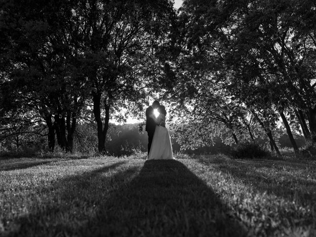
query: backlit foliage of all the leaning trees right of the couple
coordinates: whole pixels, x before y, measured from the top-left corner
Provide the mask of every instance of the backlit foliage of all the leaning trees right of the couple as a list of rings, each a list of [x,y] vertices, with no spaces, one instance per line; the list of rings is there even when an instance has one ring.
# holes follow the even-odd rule
[[[283,116],[297,152],[288,120],[295,129],[300,125],[306,140],[316,132],[315,9],[312,0],[184,1],[173,32],[177,56],[168,94],[186,113],[191,132],[200,129],[191,120],[205,127],[218,121],[237,144],[246,133],[253,141],[253,126],[261,127],[279,154],[273,131]]]

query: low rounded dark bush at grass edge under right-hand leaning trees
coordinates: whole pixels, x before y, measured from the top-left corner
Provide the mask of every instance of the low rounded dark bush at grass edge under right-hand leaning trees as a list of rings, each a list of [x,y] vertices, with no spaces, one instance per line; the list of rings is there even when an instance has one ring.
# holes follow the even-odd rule
[[[264,158],[270,153],[256,143],[240,143],[231,152],[233,158]]]

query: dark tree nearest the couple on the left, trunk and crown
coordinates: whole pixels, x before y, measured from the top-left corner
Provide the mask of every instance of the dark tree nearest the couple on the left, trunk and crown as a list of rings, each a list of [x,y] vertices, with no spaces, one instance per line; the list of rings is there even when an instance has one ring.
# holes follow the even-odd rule
[[[151,82],[143,67],[155,56],[173,14],[168,0],[79,0],[74,5],[72,34],[89,80],[100,153],[111,114],[131,101],[140,108],[146,98]]]

